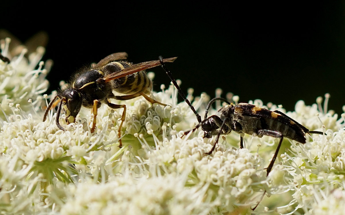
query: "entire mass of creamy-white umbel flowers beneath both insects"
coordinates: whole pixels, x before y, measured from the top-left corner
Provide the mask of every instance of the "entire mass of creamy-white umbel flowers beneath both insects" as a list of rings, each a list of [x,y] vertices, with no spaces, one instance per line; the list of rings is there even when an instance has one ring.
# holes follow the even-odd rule
[[[4,43],[3,55],[7,55]],[[40,48],[39,48],[40,49]],[[0,211],[7,214],[335,214],[343,211],[345,132],[344,116],[316,104],[297,102],[295,111],[255,100],[248,103],[279,110],[310,130],[306,144],[284,138],[272,172],[266,170],[278,139],[239,134],[221,135],[208,155],[215,136],[203,131],[181,134],[195,126],[196,117],[185,102],[177,102],[174,86],[153,92],[168,104],[150,104],[138,97],[126,104],[118,147],[122,109],[98,109],[96,131],[92,115],[82,108],[75,123],[55,125],[49,111],[42,122],[42,96],[48,82],[46,64],[38,49],[29,60],[20,54],[0,61]],[[32,59],[36,60],[32,60]],[[31,59],[31,60],[30,60]],[[153,78],[153,74],[149,73]],[[15,81],[14,86],[12,80]],[[24,84],[25,83],[25,84]],[[218,92],[219,93],[219,92]],[[192,100],[192,90],[187,98]],[[235,103],[238,96],[230,96]],[[30,102],[28,102],[28,100]],[[193,105],[205,111],[204,94]],[[326,101],[328,95],[326,95]],[[7,103],[6,103],[7,102]],[[327,102],[326,102],[327,104]],[[211,108],[209,114],[219,110]],[[270,197],[268,197],[270,196]]]

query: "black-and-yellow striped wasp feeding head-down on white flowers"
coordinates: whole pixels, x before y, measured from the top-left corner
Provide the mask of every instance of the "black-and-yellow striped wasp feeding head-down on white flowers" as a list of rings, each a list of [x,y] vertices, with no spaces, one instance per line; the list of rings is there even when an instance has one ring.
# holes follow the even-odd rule
[[[107,104],[112,109],[123,108],[121,124],[118,130],[119,147],[121,142],[121,129],[125,121],[126,105],[110,103],[109,99],[129,100],[143,96],[147,101],[166,106],[148,95],[152,91],[152,81],[146,75],[145,70],[160,65],[159,60],[148,61],[138,64],[127,62],[126,52],[118,52],[108,55],[91,68],[77,72],[71,81],[61,88],[61,91],[50,101],[43,116],[43,122],[47,119],[49,110],[54,101],[59,98],[56,125],[59,129],[65,129],[59,123],[61,107],[66,115],[66,123],[73,123],[80,111],[81,106],[92,109],[93,122],[91,133],[96,129],[97,110],[101,104]],[[163,62],[173,62],[176,58],[168,58]],[[115,95],[113,91],[125,95]]]

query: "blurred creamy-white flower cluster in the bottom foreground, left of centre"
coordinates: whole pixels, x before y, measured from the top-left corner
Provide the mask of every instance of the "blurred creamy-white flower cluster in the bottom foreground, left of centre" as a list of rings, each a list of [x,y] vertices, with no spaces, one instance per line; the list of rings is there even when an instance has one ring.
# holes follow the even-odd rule
[[[207,214],[211,199],[207,187],[186,187],[186,175],[150,178],[117,177],[95,184],[78,183],[66,190],[61,214]],[[66,191],[65,191],[66,192]]]

